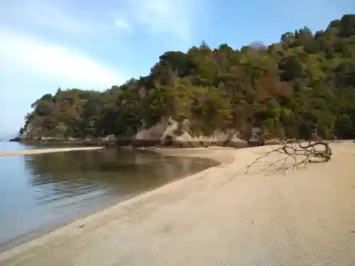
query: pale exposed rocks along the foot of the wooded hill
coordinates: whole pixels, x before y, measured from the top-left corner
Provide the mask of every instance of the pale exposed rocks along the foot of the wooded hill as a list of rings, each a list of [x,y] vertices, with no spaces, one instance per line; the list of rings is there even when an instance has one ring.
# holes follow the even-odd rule
[[[39,141],[41,144],[63,143],[66,145],[119,145],[122,147],[148,147],[154,145],[168,145],[175,148],[197,148],[209,145],[241,147],[246,141],[241,140],[239,132],[234,130],[214,131],[212,135],[193,135],[188,120],[179,123],[173,118],[162,118],[151,128],[146,128],[143,122],[141,129],[133,136],[107,135],[104,138],[60,138],[39,137],[34,133],[40,132],[40,128],[29,125],[17,138],[11,141]]]

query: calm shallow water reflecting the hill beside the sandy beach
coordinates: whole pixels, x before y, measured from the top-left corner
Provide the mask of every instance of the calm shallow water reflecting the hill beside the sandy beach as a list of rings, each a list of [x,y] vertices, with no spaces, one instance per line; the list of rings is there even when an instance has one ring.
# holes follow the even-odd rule
[[[0,151],[29,148],[0,142]],[[0,250],[212,165],[114,149],[0,157]]]

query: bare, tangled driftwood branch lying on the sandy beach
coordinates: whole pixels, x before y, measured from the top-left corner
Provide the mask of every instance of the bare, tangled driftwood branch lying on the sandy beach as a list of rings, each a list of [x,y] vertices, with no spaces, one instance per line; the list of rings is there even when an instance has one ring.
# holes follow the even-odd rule
[[[328,162],[332,157],[332,149],[329,147],[329,143],[324,140],[310,140],[306,143],[301,143],[299,140],[285,140],[278,142],[277,145],[276,148],[272,148],[271,151],[247,165],[245,173],[249,172],[250,167],[258,163],[266,165],[266,168],[261,170],[271,170],[272,167],[275,167],[271,172],[290,172],[302,166],[305,167],[308,162]],[[265,162],[263,159],[272,153],[280,154],[281,158],[273,162]],[[290,160],[292,163],[288,164]]]

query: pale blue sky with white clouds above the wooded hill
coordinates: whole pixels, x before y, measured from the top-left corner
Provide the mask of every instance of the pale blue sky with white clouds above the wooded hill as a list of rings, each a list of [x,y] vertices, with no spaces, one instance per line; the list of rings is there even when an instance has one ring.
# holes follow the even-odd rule
[[[167,50],[270,44],[344,13],[354,0],[1,0],[0,131],[16,133],[58,87],[107,89],[148,74]]]

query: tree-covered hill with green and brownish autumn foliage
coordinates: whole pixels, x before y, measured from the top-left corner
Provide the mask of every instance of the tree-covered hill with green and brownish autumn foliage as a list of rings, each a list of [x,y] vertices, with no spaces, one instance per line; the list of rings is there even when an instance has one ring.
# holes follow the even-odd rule
[[[323,138],[355,138],[355,15],[268,47],[202,42],[165,52],[147,77],[106,92],[58,89],[32,107],[24,128],[35,136],[134,135],[171,117],[187,119],[193,135],[260,126],[270,138],[309,138],[315,128]]]

